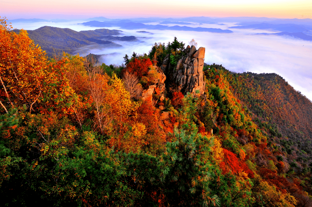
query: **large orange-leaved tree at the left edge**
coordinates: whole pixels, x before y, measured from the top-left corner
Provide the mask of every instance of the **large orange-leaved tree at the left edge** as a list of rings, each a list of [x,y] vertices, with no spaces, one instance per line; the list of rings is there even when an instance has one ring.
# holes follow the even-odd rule
[[[40,102],[55,73],[50,71],[46,53],[28,37],[10,31],[5,19],[0,20],[0,81],[6,97],[13,104],[26,104],[30,111]],[[11,101],[10,97],[14,97]],[[2,106],[3,107],[3,106]]]

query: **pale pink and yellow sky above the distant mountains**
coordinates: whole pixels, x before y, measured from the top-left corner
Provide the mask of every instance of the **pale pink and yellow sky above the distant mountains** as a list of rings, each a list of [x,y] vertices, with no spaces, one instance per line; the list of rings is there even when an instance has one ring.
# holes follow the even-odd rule
[[[8,19],[76,19],[95,16],[312,17],[311,0],[0,0],[0,8],[0,15]]]

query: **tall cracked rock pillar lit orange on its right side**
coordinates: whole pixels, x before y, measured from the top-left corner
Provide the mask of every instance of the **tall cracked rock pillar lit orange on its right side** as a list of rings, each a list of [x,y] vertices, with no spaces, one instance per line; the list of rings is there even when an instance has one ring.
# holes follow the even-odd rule
[[[178,90],[183,94],[190,92],[200,96],[205,92],[202,69],[204,67],[205,48],[188,46],[185,49],[187,55],[178,60],[176,69],[173,71],[173,81]]]

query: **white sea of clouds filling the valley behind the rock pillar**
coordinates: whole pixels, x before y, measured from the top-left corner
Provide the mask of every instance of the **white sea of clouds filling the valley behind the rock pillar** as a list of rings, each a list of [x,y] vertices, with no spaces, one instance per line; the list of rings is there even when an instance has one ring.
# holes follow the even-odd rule
[[[69,22],[16,22],[14,28],[35,30],[41,26],[54,26],[70,28],[72,30],[95,30],[97,27],[80,25],[85,21]],[[186,25],[190,27],[207,27],[227,29],[235,26],[235,23],[223,22],[225,25],[202,24]],[[158,24],[148,23],[148,24]],[[220,24],[220,22],[218,23]],[[169,24],[169,26],[173,26]],[[183,26],[183,25],[180,25]],[[119,29],[111,27],[107,29]],[[102,56],[100,61],[107,65],[123,63],[125,54],[131,56],[133,52],[148,53],[155,42],[172,42],[174,37],[188,44],[195,39],[198,47],[205,47],[205,63],[222,64],[226,69],[233,72],[251,71],[255,73],[276,73],[282,76],[295,90],[299,90],[308,99],[312,100],[312,41],[296,39],[291,36],[261,35],[257,33],[271,33],[268,30],[231,29],[233,33],[211,33],[195,31],[174,30],[145,30],[150,33],[138,33],[140,30],[123,30],[124,36],[134,35],[139,42],[114,41],[122,45],[120,48],[92,47],[89,53],[111,54]],[[85,56],[81,54],[80,56]]]

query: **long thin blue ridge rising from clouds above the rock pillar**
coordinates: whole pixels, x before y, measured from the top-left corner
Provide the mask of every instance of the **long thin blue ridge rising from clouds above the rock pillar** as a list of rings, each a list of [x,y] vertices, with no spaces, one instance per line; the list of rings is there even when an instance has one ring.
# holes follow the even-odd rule
[[[188,26],[166,26],[166,25],[145,25],[138,22],[102,22],[102,21],[88,21],[81,23],[85,26],[92,27],[120,27],[121,29],[135,30],[135,29],[149,29],[149,30],[180,30],[180,31],[198,31],[198,32],[214,32],[214,33],[232,33],[231,30],[222,30],[217,28],[205,27],[188,27]]]

